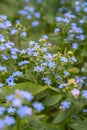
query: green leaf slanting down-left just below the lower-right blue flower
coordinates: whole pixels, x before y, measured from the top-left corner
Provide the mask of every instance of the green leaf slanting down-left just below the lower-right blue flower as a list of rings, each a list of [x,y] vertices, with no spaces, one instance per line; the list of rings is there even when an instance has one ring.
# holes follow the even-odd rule
[[[70,115],[70,110],[60,110],[58,112],[58,115],[53,120],[53,123],[61,123],[63,120],[65,120]]]

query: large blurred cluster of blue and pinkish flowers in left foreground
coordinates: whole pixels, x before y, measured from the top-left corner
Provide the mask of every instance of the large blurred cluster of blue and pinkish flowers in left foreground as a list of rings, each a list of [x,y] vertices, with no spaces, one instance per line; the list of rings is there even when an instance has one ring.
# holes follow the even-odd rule
[[[40,102],[31,103],[33,95],[24,90],[15,90],[14,94],[7,95],[6,104],[10,104],[9,107],[0,106],[0,116],[4,115],[0,119],[0,130],[3,130],[6,126],[12,126],[16,123],[16,118],[25,118],[33,115],[33,109],[38,112],[44,110],[44,106]],[[27,104],[28,103],[28,104]]]

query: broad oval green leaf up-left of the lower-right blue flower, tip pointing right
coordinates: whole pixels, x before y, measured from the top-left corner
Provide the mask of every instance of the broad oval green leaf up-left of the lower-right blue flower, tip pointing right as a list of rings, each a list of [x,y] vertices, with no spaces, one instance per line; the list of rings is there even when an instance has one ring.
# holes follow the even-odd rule
[[[45,105],[45,106],[55,105],[56,103],[58,103],[58,102],[61,100],[62,97],[63,97],[63,96],[60,95],[60,94],[53,95],[53,96],[50,95],[50,96],[48,96],[48,97],[46,98],[46,100],[44,101],[44,105]]]

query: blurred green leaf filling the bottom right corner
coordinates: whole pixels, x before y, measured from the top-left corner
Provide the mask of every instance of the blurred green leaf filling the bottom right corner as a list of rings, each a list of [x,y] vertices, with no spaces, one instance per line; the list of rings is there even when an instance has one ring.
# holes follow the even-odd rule
[[[75,121],[71,128],[74,130],[87,130],[87,121]]]

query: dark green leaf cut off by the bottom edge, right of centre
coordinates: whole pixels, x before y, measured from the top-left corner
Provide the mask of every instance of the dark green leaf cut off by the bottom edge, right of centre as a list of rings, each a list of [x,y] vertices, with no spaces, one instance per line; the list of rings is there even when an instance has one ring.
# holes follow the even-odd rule
[[[58,125],[54,125],[54,124],[49,124],[46,122],[42,122],[43,127],[45,130],[64,130],[62,127],[58,126]]]

